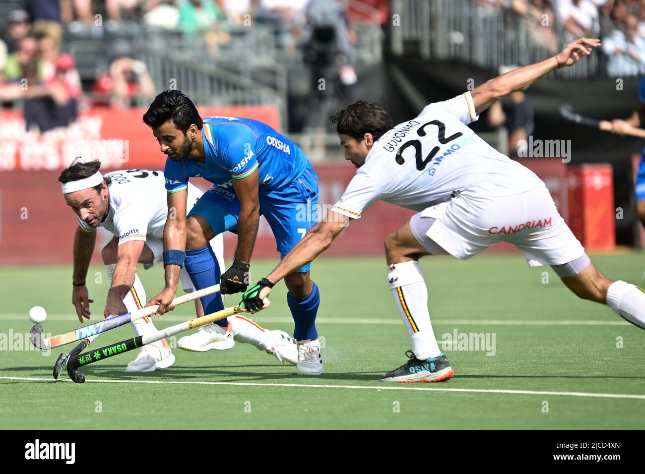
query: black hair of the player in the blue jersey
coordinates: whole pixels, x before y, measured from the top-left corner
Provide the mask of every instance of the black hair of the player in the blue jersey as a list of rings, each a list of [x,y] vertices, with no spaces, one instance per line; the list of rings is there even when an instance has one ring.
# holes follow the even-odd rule
[[[161,92],[148,107],[148,112],[143,114],[143,123],[150,128],[157,128],[169,120],[172,120],[184,135],[191,124],[195,124],[199,130],[202,129],[202,120],[195,104],[178,90]]]

